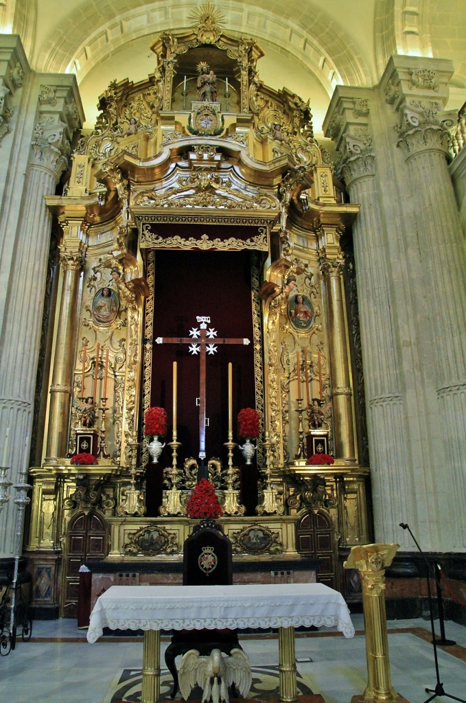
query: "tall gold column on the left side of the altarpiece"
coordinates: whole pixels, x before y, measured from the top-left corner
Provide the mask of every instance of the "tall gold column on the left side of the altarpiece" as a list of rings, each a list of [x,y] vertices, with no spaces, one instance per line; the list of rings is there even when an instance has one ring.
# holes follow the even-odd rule
[[[79,224],[75,222],[73,226],[79,229],[81,221],[80,219]],[[63,224],[64,229],[65,226],[70,228],[68,223]],[[68,413],[70,395],[73,392],[72,373],[75,363],[79,274],[83,263],[83,245],[79,240],[75,251],[67,250],[63,245],[60,252],[60,266],[63,269],[62,294],[50,387],[46,463],[58,463],[58,458],[64,457],[67,453]]]

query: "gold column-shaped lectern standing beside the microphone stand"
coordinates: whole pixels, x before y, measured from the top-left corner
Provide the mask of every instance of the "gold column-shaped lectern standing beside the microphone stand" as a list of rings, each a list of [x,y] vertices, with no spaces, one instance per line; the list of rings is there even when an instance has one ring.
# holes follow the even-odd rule
[[[363,695],[351,702],[390,703],[404,701],[391,686],[390,660],[385,613],[385,568],[391,565],[398,544],[368,544],[351,549],[345,569],[357,569],[363,588],[365,655],[368,685]]]

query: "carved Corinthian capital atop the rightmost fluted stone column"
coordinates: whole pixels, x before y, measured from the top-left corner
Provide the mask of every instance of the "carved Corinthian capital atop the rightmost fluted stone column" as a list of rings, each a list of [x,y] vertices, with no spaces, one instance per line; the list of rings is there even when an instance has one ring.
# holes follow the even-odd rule
[[[439,101],[406,100],[399,109],[400,124],[395,127],[397,145],[410,155],[426,150],[448,153],[449,132],[441,110]]]

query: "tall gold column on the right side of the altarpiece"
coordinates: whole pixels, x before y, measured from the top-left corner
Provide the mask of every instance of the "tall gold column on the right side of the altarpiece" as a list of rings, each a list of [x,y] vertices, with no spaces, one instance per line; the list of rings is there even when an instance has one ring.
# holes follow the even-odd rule
[[[335,232],[334,234],[335,238],[338,238],[337,233]],[[328,291],[335,456],[336,458],[354,461],[356,459],[356,453],[353,423],[353,393],[351,391],[351,374],[349,371],[349,349],[342,280],[344,261],[341,258],[339,247],[337,248],[337,255],[335,257],[330,257],[325,247],[321,248],[319,253],[319,263],[327,282]]]

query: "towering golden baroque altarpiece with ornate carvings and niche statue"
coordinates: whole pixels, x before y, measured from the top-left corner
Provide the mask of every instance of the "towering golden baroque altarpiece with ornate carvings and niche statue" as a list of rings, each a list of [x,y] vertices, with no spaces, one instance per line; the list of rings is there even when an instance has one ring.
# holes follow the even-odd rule
[[[164,32],[151,49],[153,75],[110,83],[63,195],[46,198],[63,238],[27,557],[35,605],[60,604],[70,617],[83,558],[100,556],[119,572],[149,558],[179,562],[192,524],[183,505],[195,473],[178,465],[176,435],[159,515],[145,511],[141,420],[157,373],[159,250],[251,252],[256,514],[241,503],[231,434],[224,458],[208,467],[235,560],[266,571],[270,560],[309,555],[298,529],[306,516],[328,524],[335,554],[370,538],[340,247],[358,207],[343,202],[309,104],[261,82],[260,47],[226,34],[212,6],[198,10],[192,31]],[[334,464],[307,462],[323,449]],[[98,463],[73,463],[82,451]],[[93,539],[96,550],[86,551]],[[338,574],[332,583],[339,587]]]

